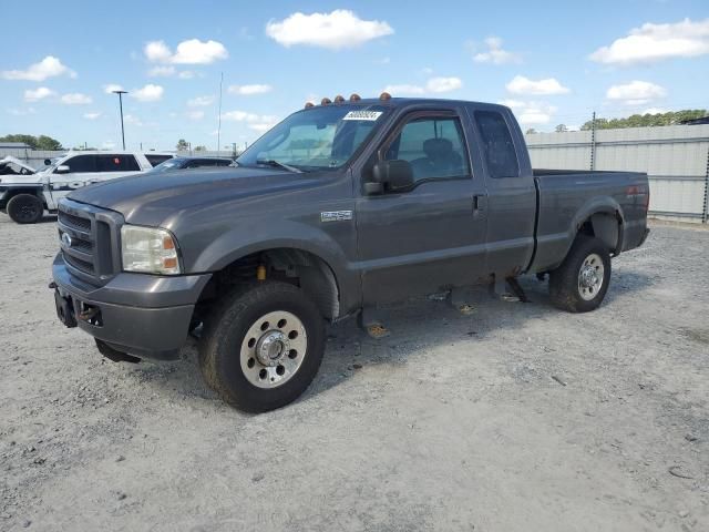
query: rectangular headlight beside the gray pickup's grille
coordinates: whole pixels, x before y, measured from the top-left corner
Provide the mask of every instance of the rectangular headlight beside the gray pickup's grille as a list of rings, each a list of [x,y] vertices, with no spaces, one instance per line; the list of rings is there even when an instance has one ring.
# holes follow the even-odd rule
[[[121,227],[121,255],[125,272],[179,274],[177,245],[165,229],[124,225]]]

